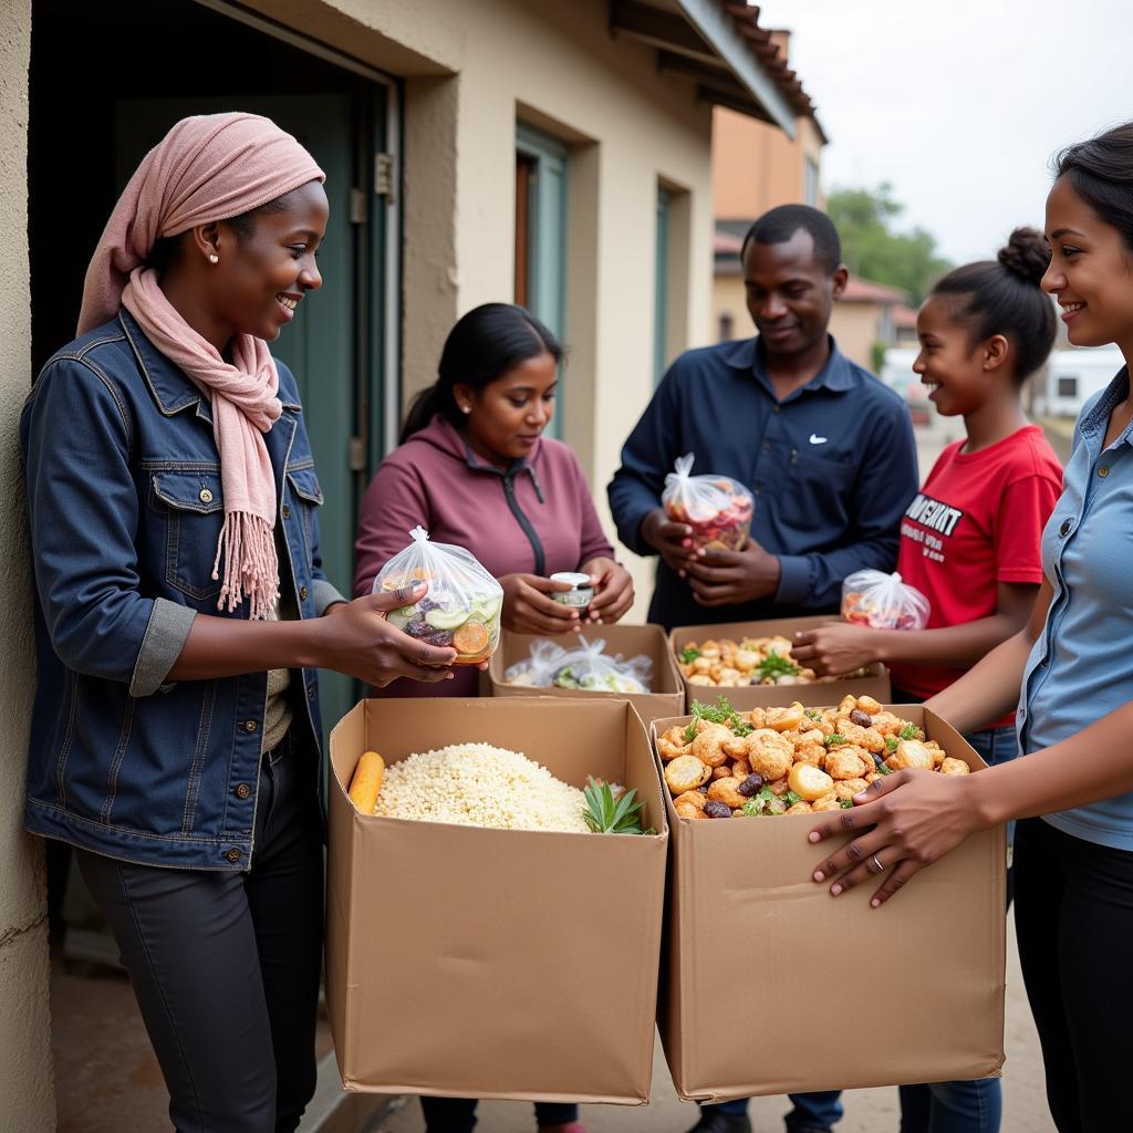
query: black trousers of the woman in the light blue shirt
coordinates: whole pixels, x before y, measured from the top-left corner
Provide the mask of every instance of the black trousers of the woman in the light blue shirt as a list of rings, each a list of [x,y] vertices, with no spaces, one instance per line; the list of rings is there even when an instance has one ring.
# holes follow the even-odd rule
[[[1133,852],[1021,820],[1015,928],[1058,1133],[1127,1130]]]

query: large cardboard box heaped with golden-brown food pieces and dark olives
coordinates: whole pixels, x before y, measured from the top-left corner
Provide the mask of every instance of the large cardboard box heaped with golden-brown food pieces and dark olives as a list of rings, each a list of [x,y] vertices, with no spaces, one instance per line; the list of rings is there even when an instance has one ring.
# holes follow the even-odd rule
[[[925,707],[655,721],[673,854],[658,1022],[682,1098],[997,1076],[1004,1062],[1003,828],[972,835],[886,904],[811,880],[809,832],[905,766],[985,764]],[[883,863],[884,864],[884,863]]]

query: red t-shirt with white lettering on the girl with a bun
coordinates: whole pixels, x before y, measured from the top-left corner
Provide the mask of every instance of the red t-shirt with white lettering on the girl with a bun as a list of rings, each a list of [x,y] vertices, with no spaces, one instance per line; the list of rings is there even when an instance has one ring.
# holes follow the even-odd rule
[[[999,582],[1041,582],[1039,540],[1062,494],[1062,465],[1038,425],[979,452],[961,452],[964,444],[940,453],[901,521],[897,570],[928,598],[927,629],[990,617]],[[893,683],[922,699],[963,675],[938,665],[892,668]]]

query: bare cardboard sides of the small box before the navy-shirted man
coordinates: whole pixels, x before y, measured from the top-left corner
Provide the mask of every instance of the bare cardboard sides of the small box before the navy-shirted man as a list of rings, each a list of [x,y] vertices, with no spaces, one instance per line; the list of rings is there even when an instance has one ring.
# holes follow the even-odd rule
[[[781,634],[787,640],[794,640],[798,630],[812,630],[835,621],[833,614],[819,614],[815,617],[780,617],[766,622],[724,622],[719,625],[680,625],[668,636],[674,663],[676,654],[689,641],[707,641],[709,638],[732,638],[739,641],[743,637],[775,637]],[[727,697],[732,706],[740,712],[752,708],[769,708],[774,705],[789,705],[798,700],[808,708],[823,705],[836,705],[847,692],[855,697],[872,697],[879,704],[886,704],[892,695],[889,671],[885,665],[871,665],[868,676],[843,678],[836,681],[818,681],[812,684],[750,684],[738,689],[713,689],[707,685],[689,684],[683,673],[678,668],[678,675],[684,685],[685,710],[692,707],[693,700],[715,702],[721,693]]]

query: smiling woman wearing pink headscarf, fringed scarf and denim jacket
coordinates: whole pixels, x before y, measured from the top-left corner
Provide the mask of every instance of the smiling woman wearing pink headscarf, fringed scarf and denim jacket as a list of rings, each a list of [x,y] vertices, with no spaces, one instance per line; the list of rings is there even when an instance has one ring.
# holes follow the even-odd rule
[[[26,825],[75,847],[194,1133],[295,1130],[314,1091],[315,671],[437,681],[455,657],[382,616],[416,591],[347,602],[322,570],[298,392],[267,347],[322,282],[322,182],[267,119],[178,122],[20,421]]]

